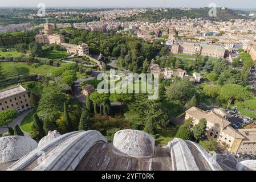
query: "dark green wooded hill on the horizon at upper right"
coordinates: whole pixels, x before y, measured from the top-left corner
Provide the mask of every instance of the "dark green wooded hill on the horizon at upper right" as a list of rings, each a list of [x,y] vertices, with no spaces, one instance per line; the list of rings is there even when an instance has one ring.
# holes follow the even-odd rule
[[[237,19],[242,18],[246,19],[248,16],[242,16],[241,14],[248,15],[247,11],[242,10],[231,10],[231,9],[221,9],[217,8],[217,16],[210,17],[209,16],[210,8],[204,7],[200,9],[191,9],[191,10],[181,10],[181,9],[168,9],[167,11],[162,10],[148,10],[146,13],[141,13],[139,15],[135,15],[132,17],[119,18],[120,20],[127,21],[143,21],[143,22],[159,22],[161,19],[171,19],[176,18],[180,19],[183,16],[187,16],[188,18],[204,18],[210,20],[229,20],[229,19]]]

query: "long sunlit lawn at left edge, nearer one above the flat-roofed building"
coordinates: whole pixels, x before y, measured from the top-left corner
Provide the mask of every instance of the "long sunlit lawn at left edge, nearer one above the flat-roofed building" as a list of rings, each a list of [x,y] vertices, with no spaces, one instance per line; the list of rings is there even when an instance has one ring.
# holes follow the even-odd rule
[[[3,72],[10,72],[10,69],[17,67],[19,71],[22,73],[51,73],[56,69],[56,67],[52,67],[50,65],[40,65],[37,63],[32,63],[31,65],[27,65],[27,63],[0,63]]]

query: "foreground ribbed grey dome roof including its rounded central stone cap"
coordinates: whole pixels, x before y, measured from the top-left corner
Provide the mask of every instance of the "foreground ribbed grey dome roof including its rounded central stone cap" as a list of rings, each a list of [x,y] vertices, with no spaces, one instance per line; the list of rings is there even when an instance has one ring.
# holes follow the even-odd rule
[[[19,144],[18,144],[19,145]],[[33,146],[34,147],[34,146]],[[32,148],[33,148],[32,147]],[[32,148],[30,148],[32,150]],[[48,133],[8,171],[222,171],[255,170],[256,160],[238,163],[232,155],[209,154],[197,143],[175,138],[156,147],[151,135],[120,130],[108,143],[99,131]],[[17,158],[15,158],[17,159]]]

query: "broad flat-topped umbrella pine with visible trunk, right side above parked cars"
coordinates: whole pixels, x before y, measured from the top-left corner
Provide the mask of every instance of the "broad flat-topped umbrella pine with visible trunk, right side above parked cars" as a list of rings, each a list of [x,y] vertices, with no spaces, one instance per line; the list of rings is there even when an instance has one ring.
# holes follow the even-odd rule
[[[246,100],[253,98],[253,93],[247,91],[245,87],[237,84],[227,84],[222,86],[220,99],[228,101],[227,109],[234,100]]]

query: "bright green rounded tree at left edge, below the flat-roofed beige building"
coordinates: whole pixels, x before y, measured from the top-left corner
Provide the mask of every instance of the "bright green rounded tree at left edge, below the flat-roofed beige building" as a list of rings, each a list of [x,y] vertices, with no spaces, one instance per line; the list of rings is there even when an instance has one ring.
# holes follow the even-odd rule
[[[9,109],[3,110],[0,112],[0,127],[7,127],[9,128],[9,123],[13,121],[18,115],[17,110]]]

